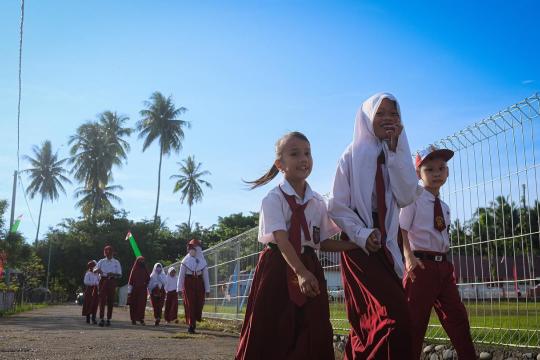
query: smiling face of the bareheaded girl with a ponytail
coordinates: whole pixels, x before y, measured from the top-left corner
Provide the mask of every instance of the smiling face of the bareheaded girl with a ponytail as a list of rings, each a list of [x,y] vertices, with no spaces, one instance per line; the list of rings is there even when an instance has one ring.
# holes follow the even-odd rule
[[[282,146],[276,167],[285,174],[285,179],[291,183],[305,181],[313,168],[311,146],[308,141],[291,136]]]

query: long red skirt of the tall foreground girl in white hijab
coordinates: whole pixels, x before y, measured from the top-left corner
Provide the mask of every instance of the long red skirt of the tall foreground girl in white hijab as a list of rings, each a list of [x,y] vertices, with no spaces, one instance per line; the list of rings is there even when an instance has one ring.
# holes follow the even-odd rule
[[[405,292],[384,252],[343,252],[341,275],[351,325],[344,359],[411,359]]]

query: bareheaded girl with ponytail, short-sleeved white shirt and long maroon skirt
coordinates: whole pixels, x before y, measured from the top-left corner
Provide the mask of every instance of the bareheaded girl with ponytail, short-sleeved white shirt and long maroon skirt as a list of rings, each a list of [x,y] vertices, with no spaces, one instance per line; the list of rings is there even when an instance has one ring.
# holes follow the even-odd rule
[[[271,169],[249,182],[256,188],[283,173],[262,201],[258,240],[266,246],[253,276],[237,360],[334,359],[326,280],[315,251],[357,247],[328,240],[340,229],[306,181],[312,167],[309,140],[291,132],[276,143]]]

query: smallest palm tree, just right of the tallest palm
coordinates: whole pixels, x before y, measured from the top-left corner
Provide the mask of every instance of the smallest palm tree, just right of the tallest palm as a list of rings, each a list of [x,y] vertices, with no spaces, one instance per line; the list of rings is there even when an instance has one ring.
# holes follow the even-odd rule
[[[188,156],[187,159],[179,162],[180,174],[172,175],[171,179],[178,179],[174,185],[173,192],[181,191],[180,202],[183,204],[187,201],[189,207],[188,227],[191,229],[191,207],[193,204],[200,202],[203,198],[203,190],[201,185],[212,188],[212,185],[202,179],[203,176],[211,175],[207,170],[201,170],[201,163],[195,162],[195,156]]]

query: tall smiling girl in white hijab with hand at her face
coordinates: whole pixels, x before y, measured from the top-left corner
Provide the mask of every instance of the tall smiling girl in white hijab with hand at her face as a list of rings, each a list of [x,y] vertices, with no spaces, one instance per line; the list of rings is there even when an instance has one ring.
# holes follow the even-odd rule
[[[351,325],[345,359],[411,359],[399,208],[420,191],[399,104],[391,94],[375,94],[356,114],[328,201],[342,237],[360,247],[341,255]]]

